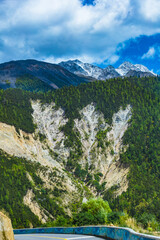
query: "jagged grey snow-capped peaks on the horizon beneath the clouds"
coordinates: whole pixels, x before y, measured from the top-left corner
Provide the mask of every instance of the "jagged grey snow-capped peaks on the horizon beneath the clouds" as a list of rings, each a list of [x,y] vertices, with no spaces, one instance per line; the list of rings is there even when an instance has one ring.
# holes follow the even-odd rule
[[[79,60],[69,60],[59,63],[60,66],[79,76],[92,77],[98,80],[125,76],[154,76],[147,67],[141,64],[132,64],[130,62],[122,63],[118,68],[109,65],[106,68],[100,68],[89,63],[83,63]]]

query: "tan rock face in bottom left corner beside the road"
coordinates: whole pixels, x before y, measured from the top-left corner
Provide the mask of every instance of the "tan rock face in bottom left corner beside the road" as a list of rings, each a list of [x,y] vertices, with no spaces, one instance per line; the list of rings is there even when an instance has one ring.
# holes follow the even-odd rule
[[[14,240],[11,220],[2,212],[0,212],[0,239]]]

